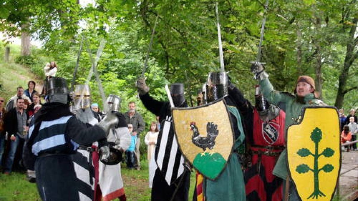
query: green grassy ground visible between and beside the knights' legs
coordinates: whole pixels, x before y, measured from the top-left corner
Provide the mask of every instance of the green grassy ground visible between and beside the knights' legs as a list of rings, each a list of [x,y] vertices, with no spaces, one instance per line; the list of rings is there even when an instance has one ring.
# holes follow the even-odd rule
[[[141,170],[129,170],[122,164],[122,178],[127,201],[149,201],[148,163],[141,161]],[[195,173],[190,179],[189,197],[193,196]],[[36,185],[26,180],[24,173],[13,172],[10,175],[0,173],[0,201],[40,201]],[[191,199],[189,199],[191,200]]]

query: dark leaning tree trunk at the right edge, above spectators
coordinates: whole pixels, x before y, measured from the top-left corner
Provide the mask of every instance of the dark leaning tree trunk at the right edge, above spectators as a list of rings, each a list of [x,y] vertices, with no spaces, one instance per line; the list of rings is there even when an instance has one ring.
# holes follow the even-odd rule
[[[338,83],[338,92],[335,100],[334,106],[337,108],[342,108],[344,102],[344,95],[349,92],[347,90],[347,79],[349,78],[348,72],[352,63],[358,57],[358,52],[354,53],[354,48],[357,46],[358,36],[354,38],[355,30],[357,29],[358,18],[354,18],[352,21],[352,26],[349,31],[348,41],[347,41],[347,52],[345,53],[344,63],[342,71],[339,75]],[[351,86],[354,87],[354,86]]]

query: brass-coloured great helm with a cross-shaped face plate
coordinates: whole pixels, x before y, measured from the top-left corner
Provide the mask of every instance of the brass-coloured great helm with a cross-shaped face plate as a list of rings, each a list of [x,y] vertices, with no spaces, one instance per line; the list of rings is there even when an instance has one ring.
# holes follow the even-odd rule
[[[75,109],[85,109],[91,106],[91,93],[87,84],[76,85],[72,95]]]

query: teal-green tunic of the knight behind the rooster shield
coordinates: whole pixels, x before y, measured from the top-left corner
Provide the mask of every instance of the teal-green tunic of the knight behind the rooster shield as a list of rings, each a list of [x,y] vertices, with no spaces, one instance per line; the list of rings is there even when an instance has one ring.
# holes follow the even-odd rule
[[[237,149],[245,140],[240,113],[236,107],[228,107],[237,119],[237,127],[240,130],[240,136],[235,140],[234,150]],[[206,201],[245,201],[245,182],[241,170],[240,160],[237,153],[232,153],[227,165],[220,176],[211,181],[206,179],[204,182],[204,194]]]

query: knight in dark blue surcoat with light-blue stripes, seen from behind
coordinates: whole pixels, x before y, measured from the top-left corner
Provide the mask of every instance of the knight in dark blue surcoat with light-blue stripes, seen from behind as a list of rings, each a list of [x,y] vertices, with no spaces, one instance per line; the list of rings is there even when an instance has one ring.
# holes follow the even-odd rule
[[[73,155],[81,146],[90,147],[93,142],[105,141],[110,128],[117,125],[119,117],[108,115],[100,123],[88,126],[79,121],[69,110],[67,83],[64,78],[53,77],[47,83],[48,103],[35,114],[30,122],[24,152],[27,169],[36,171],[36,183],[42,200],[93,200],[93,191],[87,183],[93,179],[90,158],[81,163],[73,161]],[[109,148],[100,148],[101,160],[109,156]],[[79,178],[78,166],[88,174]],[[93,181],[92,181],[93,182]],[[85,195],[86,199],[82,199]]]

